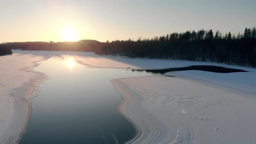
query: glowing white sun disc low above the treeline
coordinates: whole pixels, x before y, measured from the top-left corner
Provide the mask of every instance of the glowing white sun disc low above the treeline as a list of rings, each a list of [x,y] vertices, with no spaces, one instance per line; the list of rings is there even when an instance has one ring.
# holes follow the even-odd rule
[[[63,27],[61,35],[62,35],[63,41],[66,41],[66,42],[78,41],[77,31],[73,27],[70,27],[70,26]]]

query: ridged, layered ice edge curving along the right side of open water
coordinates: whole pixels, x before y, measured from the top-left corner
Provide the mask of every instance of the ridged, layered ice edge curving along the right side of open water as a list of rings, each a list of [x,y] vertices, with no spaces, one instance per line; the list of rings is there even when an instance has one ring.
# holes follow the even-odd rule
[[[143,98],[140,95],[133,93],[131,89],[127,89],[127,85],[121,82],[121,79],[112,79],[110,81],[114,85],[115,90],[122,96],[122,100],[117,105],[118,113],[129,121],[136,131],[135,136],[126,143],[150,144],[162,139],[175,139],[176,135],[170,134],[176,134],[176,128],[173,127],[175,131],[170,131],[168,128],[165,128],[165,125],[159,121],[158,118],[142,108],[139,103],[142,102]],[[135,107],[136,110],[134,111]]]

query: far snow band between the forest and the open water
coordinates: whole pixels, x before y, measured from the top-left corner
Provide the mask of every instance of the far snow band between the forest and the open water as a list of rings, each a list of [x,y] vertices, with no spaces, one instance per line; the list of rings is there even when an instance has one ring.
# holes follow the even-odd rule
[[[187,67],[190,65],[214,65],[232,69],[243,69],[246,71],[256,71],[253,68],[236,65],[225,65],[214,62],[194,62],[185,60],[169,59],[131,59],[122,56],[99,56],[93,52],[65,52],[65,51],[13,51],[13,53],[33,54],[36,56],[59,56],[62,58],[73,58],[77,62],[88,67],[98,68],[118,68],[118,69],[167,69]]]

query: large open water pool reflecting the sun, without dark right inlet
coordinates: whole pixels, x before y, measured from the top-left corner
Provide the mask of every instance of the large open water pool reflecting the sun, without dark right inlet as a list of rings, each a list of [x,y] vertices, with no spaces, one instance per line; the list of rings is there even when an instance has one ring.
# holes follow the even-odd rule
[[[49,80],[32,100],[32,114],[20,144],[122,144],[135,129],[116,111],[121,95],[109,79],[151,75],[125,69],[86,68],[60,58],[35,71]]]

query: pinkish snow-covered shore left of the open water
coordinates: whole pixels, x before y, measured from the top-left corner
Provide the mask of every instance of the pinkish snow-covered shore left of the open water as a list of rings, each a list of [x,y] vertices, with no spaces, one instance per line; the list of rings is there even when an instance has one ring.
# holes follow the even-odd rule
[[[47,75],[33,71],[45,56],[20,55],[0,57],[0,143],[17,143],[26,131],[31,108],[26,97]]]

